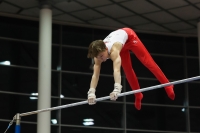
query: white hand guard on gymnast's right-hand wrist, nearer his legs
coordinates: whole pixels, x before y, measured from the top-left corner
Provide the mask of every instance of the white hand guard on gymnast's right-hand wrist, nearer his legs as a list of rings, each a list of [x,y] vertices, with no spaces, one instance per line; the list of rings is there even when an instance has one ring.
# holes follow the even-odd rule
[[[115,101],[118,98],[118,94],[120,94],[122,91],[122,86],[119,83],[114,84],[114,90],[110,93],[110,100]]]

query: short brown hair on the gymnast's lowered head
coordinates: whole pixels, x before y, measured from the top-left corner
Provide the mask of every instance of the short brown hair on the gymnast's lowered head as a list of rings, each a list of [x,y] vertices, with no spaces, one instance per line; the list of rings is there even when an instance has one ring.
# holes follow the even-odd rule
[[[106,50],[106,45],[103,42],[103,40],[96,40],[93,41],[90,45],[89,45],[89,49],[88,49],[88,58],[94,58],[97,57],[99,53],[103,52]]]

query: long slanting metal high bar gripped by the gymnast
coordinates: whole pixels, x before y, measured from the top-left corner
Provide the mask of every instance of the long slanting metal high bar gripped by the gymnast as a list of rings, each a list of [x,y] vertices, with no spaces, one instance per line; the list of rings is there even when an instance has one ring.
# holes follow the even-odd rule
[[[128,91],[128,92],[119,94],[118,97],[130,95],[130,94],[135,94],[135,93],[139,93],[139,92],[144,92],[144,91],[149,91],[149,90],[154,90],[154,89],[162,88],[162,87],[169,86],[169,85],[176,85],[176,84],[181,84],[181,83],[185,83],[185,82],[190,82],[190,81],[198,80],[198,79],[200,79],[200,76],[182,79],[182,80],[169,82],[169,83],[165,83],[165,84],[160,84],[160,85],[156,85],[156,86],[151,86],[151,87],[138,89],[138,90],[134,90],[134,91]],[[110,99],[110,96],[97,98],[96,102],[107,100],[107,99]],[[66,105],[62,105],[62,106],[57,106],[57,107],[41,109],[41,110],[36,110],[36,111],[32,111],[32,112],[27,112],[27,113],[22,113],[22,114],[20,114],[20,116],[27,116],[27,115],[37,114],[37,113],[41,113],[41,112],[46,112],[46,111],[69,108],[69,107],[78,106],[78,105],[87,104],[87,103],[88,103],[87,101],[76,102],[76,103],[72,103],[72,104],[66,104]]]

